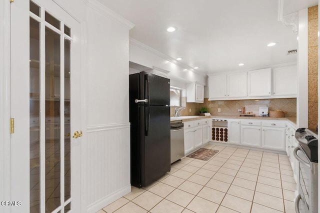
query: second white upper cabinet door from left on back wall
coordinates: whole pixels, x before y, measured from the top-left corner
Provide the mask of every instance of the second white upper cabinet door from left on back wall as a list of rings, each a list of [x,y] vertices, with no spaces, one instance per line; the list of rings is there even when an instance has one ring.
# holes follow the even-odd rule
[[[227,74],[227,97],[247,96],[246,72]]]

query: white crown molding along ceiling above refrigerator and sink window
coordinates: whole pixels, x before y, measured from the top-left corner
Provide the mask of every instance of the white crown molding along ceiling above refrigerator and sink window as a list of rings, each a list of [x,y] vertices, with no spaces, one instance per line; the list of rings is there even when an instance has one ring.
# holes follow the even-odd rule
[[[156,50],[156,49],[154,49],[154,48],[152,48],[152,47],[150,47],[150,46],[148,46],[148,45],[146,45],[146,44],[144,44],[144,43],[142,43],[142,42],[140,42],[140,41],[138,41],[138,40],[136,40],[136,39],[134,39],[132,37],[129,37],[129,44],[132,44],[132,45],[134,45],[136,47],[139,47],[141,49],[144,49],[144,50],[146,50],[146,51],[148,51],[148,52],[150,52],[152,54],[155,54],[155,55],[157,55],[157,56],[159,56],[159,57],[161,57],[161,58],[163,58],[163,59],[165,59],[167,61],[170,61],[171,63],[174,63],[174,64],[180,66],[183,69],[187,69],[188,71],[192,71],[192,72],[194,72],[196,74],[199,74],[199,75],[202,75],[202,76],[206,76],[206,74],[203,74],[201,72],[195,71],[193,69],[193,67],[188,66],[188,65],[186,65],[184,63],[181,63],[181,62],[177,61],[176,59],[174,59],[173,57],[170,57],[170,56],[168,56],[168,55],[166,55],[166,54],[164,54],[164,53],[162,53],[162,52],[160,52],[160,51],[158,51],[158,50]]]

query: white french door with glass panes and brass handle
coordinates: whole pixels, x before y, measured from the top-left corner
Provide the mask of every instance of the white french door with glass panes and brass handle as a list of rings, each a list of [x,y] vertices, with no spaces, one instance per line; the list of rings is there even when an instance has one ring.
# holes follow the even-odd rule
[[[11,212],[80,212],[80,23],[53,0],[11,3]]]

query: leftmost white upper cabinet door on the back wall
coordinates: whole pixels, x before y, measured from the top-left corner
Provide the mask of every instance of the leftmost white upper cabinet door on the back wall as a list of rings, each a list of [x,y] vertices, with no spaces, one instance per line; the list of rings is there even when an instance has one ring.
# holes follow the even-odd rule
[[[209,76],[209,100],[226,98],[226,75]]]

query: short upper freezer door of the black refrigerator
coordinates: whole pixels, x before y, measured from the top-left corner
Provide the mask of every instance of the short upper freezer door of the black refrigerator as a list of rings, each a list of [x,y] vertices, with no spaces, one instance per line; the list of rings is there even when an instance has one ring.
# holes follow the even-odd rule
[[[170,79],[161,77],[147,72],[140,72],[144,79],[140,81],[140,86],[143,84],[144,98],[148,99],[148,105],[170,105]]]

